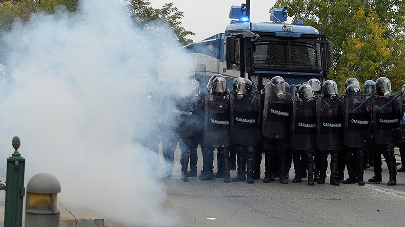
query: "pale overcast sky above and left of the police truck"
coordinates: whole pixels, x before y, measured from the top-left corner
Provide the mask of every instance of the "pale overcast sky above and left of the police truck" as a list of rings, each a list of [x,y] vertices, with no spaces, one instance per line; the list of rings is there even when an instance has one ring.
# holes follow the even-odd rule
[[[220,32],[230,24],[229,11],[232,5],[246,3],[245,0],[150,0],[152,7],[161,8],[165,3],[173,2],[174,6],[184,12],[183,27],[195,33],[194,41],[200,41]],[[251,0],[250,21],[270,21],[269,9],[276,0]]]

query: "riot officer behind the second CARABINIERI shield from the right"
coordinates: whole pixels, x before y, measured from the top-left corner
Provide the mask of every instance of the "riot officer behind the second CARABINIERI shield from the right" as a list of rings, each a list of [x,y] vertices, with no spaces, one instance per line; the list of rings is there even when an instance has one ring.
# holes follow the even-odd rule
[[[344,141],[349,178],[343,180],[343,184],[365,185],[363,162],[367,148],[372,143],[371,98],[361,95],[361,88],[357,84],[350,84],[346,88]]]

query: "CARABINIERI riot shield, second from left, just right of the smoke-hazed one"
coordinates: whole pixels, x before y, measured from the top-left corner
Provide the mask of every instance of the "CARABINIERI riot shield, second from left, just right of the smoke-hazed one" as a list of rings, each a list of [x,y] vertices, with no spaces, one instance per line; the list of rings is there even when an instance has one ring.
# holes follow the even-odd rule
[[[205,144],[209,147],[231,146],[229,95],[207,94],[205,105]]]

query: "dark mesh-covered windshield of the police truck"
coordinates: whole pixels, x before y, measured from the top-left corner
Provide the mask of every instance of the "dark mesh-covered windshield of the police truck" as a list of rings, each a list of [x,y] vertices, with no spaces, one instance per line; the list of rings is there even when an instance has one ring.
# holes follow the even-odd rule
[[[322,70],[321,42],[258,40],[252,43],[255,69]]]

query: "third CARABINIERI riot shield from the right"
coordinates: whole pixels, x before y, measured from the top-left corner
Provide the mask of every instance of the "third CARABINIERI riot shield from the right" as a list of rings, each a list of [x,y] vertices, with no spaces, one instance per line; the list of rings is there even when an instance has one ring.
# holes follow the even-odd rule
[[[343,147],[343,96],[316,99],[317,147],[320,150],[337,150]]]

